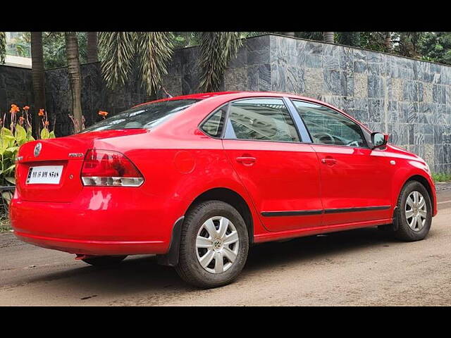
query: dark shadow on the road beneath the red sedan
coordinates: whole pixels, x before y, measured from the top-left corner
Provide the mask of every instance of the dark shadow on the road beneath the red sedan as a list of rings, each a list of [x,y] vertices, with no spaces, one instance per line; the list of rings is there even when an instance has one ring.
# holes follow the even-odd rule
[[[289,242],[268,242],[252,246],[242,278],[254,273],[264,274],[280,265],[323,264],[340,259],[345,253],[361,249],[383,249],[399,245],[388,234],[376,228],[334,232],[302,237]],[[339,263],[339,262],[338,262]],[[171,267],[158,265],[154,256],[132,256],[114,268],[96,268],[80,262],[80,268],[40,275],[30,282],[63,280],[68,287],[91,293],[121,294],[177,290],[192,292],[197,289],[180,280]]]

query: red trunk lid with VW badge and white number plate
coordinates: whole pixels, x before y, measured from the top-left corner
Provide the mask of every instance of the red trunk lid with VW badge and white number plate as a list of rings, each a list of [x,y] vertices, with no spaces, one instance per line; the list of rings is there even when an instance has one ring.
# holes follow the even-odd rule
[[[94,142],[142,132],[147,130],[105,130],[23,144],[18,152],[20,159],[16,162],[16,189],[20,199],[66,203],[73,201],[83,189],[80,179],[82,163],[87,150],[94,148]],[[40,151],[35,154],[37,147],[40,147]],[[55,175],[59,177],[59,181],[55,180]]]

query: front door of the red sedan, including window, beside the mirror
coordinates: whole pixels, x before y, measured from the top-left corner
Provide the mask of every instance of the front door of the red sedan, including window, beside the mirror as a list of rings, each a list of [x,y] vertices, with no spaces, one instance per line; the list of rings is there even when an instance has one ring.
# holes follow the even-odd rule
[[[362,127],[326,106],[292,100],[319,158],[323,225],[391,218],[388,158]]]

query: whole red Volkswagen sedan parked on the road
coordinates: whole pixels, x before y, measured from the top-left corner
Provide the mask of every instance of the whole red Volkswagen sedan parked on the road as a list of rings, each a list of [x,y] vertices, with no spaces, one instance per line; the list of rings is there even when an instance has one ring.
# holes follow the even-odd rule
[[[25,242],[92,265],[156,254],[199,287],[239,275],[249,245],[380,226],[424,239],[424,160],[340,109],[268,92],[152,101],[20,147],[10,215]]]

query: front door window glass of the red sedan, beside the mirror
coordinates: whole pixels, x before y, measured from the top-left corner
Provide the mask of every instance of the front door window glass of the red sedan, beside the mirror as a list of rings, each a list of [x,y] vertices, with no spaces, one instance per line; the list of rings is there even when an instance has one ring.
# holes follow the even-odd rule
[[[367,147],[362,128],[333,109],[292,101],[316,144]]]

